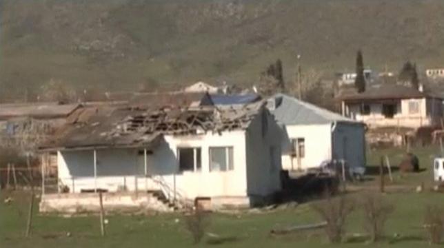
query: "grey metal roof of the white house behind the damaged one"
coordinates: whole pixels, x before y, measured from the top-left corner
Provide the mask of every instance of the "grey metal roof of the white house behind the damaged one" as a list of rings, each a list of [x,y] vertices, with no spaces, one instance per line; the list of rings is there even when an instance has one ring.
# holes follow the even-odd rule
[[[285,94],[276,94],[268,101],[269,103],[274,101],[274,110],[270,108],[270,104],[268,107],[270,112],[274,114],[276,121],[285,125],[316,125],[334,121],[359,123]]]

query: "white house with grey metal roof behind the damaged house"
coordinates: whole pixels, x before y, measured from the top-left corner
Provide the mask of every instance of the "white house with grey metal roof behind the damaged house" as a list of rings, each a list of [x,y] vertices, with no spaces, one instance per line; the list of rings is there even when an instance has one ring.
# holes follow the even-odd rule
[[[319,168],[333,160],[344,160],[354,168],[365,166],[363,123],[285,94],[268,99],[268,108],[283,132],[283,169]]]

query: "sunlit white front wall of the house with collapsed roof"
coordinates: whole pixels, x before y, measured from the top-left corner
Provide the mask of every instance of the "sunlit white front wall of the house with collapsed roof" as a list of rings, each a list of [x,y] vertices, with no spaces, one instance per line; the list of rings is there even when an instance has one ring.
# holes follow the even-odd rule
[[[210,172],[209,147],[233,147],[234,170]],[[176,159],[177,147],[201,147],[200,172],[179,172]],[[110,191],[118,187],[134,190],[134,178],[139,175],[138,189],[145,188],[143,156],[138,149],[98,149],[97,187]],[[74,178],[74,191],[94,189],[94,157],[92,151],[59,152],[59,178],[64,185],[71,187]],[[245,132],[223,132],[199,136],[165,136],[161,145],[148,155],[148,180],[150,189],[160,189],[161,182],[168,194],[176,197],[195,198],[197,196],[246,196]]]

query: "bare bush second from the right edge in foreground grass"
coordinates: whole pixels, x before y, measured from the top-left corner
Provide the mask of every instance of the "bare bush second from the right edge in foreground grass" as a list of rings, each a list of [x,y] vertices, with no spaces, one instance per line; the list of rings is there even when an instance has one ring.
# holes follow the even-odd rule
[[[363,210],[365,229],[375,242],[383,236],[385,222],[392,214],[394,206],[385,203],[381,194],[366,194],[363,198]]]

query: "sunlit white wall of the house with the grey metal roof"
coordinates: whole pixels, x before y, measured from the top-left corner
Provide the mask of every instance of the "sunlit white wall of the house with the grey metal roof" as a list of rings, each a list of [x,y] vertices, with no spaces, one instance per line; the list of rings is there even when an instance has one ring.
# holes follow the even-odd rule
[[[323,125],[287,125],[283,130],[282,167],[287,170],[318,167],[322,161],[332,159],[331,124]],[[305,139],[305,156],[298,159],[290,155],[291,138]]]

